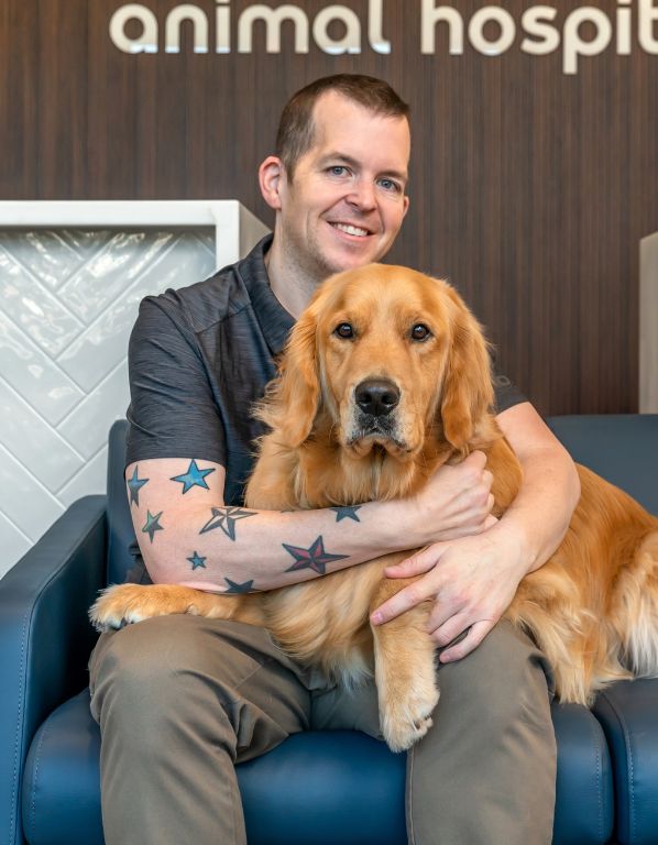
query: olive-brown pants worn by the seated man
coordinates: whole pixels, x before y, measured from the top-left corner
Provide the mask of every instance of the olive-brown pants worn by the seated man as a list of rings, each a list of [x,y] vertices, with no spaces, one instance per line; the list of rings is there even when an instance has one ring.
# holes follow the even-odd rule
[[[409,843],[551,842],[547,671],[506,622],[439,669],[435,725],[407,756]],[[90,673],[107,845],[243,844],[234,762],[309,728],[381,737],[373,685],[338,689],[241,623],[163,616],[103,634]]]

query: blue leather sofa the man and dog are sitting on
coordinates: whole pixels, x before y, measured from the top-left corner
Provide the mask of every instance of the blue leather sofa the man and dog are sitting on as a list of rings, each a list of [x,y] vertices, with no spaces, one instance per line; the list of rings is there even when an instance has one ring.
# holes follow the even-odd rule
[[[577,460],[658,513],[658,416],[549,424]],[[103,841],[87,608],[130,563],[124,439],[118,422],[107,496],[76,502],[0,581],[0,845]],[[592,711],[556,704],[552,714],[553,843],[658,843],[658,680],[618,683]],[[239,778],[250,845],[406,842],[404,755],[362,734],[293,736],[241,765]]]

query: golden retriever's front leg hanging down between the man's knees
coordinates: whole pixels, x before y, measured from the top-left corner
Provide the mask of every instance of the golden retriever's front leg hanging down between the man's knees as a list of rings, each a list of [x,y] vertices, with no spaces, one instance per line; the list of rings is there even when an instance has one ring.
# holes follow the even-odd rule
[[[407,583],[410,581],[383,582],[371,611]],[[380,725],[393,751],[404,751],[425,736],[439,701],[436,644],[426,627],[431,602],[424,602],[373,627]]]

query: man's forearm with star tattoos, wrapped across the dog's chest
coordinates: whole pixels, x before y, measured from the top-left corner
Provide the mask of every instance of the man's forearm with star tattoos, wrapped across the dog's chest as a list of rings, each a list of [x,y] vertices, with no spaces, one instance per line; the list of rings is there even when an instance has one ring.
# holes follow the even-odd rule
[[[392,503],[318,511],[209,506],[144,515],[140,547],[155,583],[252,592],[307,581],[406,548]]]

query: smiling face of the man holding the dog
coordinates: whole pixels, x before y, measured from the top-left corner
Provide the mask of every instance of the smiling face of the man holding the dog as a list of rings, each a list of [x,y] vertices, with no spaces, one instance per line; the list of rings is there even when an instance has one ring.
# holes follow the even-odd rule
[[[286,263],[319,282],[380,261],[408,207],[406,118],[382,117],[333,91],[315,106],[311,149],[282,175],[276,233]]]

